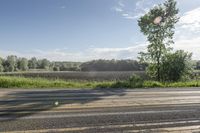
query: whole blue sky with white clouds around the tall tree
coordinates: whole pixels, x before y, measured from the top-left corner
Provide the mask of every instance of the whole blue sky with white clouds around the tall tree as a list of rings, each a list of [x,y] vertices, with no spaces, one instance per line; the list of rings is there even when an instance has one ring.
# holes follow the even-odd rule
[[[0,56],[51,61],[137,59],[137,20],[165,0],[0,0]],[[200,0],[177,0],[174,50],[200,59]]]

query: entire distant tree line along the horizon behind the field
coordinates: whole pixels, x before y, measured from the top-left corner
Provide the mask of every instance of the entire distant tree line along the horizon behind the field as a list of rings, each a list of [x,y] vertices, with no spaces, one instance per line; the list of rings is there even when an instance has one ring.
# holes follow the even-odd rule
[[[174,63],[175,64],[175,63]],[[166,65],[165,65],[166,66]],[[88,62],[60,62],[47,59],[31,59],[15,55],[0,58],[0,72],[16,71],[145,71],[147,63],[136,60],[92,60]],[[193,68],[200,70],[200,60],[194,61]]]

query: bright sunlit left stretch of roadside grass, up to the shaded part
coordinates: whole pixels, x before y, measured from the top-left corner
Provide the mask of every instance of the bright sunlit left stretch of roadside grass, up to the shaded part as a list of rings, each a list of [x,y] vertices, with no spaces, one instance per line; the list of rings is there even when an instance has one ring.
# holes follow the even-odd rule
[[[65,81],[44,78],[0,76],[0,88],[97,88],[110,86],[111,81]]]

